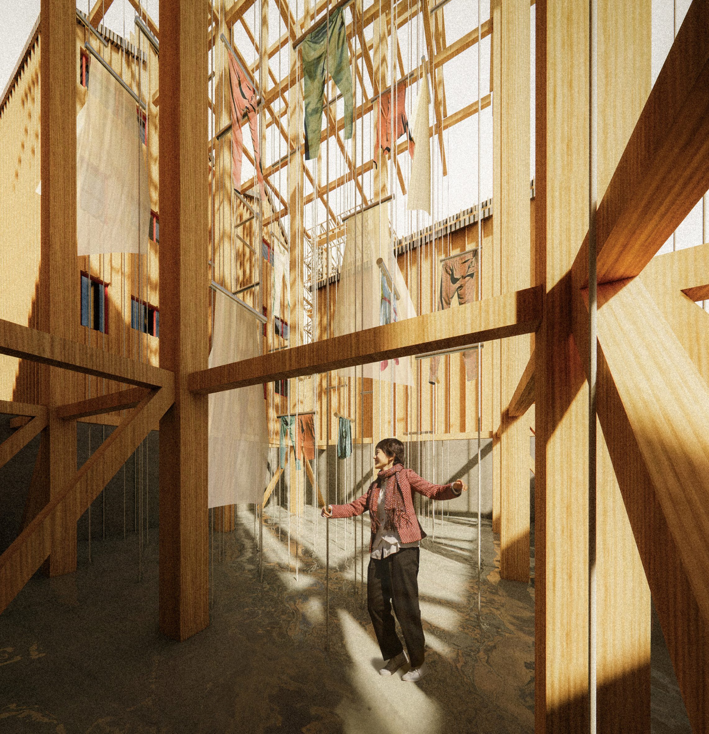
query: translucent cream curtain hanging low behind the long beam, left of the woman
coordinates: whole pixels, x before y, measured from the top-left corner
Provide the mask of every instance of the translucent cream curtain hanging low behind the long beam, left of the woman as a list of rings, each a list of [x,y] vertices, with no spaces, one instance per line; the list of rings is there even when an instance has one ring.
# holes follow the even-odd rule
[[[209,366],[257,357],[261,322],[218,291]],[[263,385],[209,396],[209,506],[260,504],[268,481],[269,432]]]

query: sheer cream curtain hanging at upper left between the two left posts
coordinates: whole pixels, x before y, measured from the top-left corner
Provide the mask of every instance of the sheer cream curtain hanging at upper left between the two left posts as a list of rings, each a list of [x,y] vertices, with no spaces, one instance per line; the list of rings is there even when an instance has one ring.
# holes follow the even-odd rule
[[[138,107],[96,60],[76,118],[76,194],[79,255],[148,252],[150,195]]]

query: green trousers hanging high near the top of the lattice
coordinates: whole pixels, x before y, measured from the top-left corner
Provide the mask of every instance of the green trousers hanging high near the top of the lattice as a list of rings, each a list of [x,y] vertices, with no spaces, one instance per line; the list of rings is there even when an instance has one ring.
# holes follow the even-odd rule
[[[316,28],[302,43],[303,98],[305,101],[305,160],[318,157],[322,131],[323,95],[327,74],[342,92],[345,115],[345,139],[352,138],[352,73],[345,28],[344,8],[330,13],[330,20]]]

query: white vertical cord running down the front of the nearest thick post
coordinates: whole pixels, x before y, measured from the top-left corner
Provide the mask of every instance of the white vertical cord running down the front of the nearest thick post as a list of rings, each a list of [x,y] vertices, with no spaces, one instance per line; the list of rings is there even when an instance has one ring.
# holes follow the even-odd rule
[[[589,733],[596,733],[596,211],[598,200],[598,6],[589,18]]]

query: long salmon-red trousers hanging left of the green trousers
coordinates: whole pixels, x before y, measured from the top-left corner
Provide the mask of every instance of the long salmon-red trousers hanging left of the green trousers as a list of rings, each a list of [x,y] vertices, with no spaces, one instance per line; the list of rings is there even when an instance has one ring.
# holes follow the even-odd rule
[[[231,179],[235,189],[241,191],[241,159],[244,153],[244,136],[241,122],[244,115],[249,120],[253,157],[256,164],[256,180],[261,189],[261,201],[266,201],[263,190],[263,167],[261,166],[261,144],[258,140],[258,100],[256,90],[241,70],[236,57],[227,49],[229,58],[229,87],[231,98]]]

